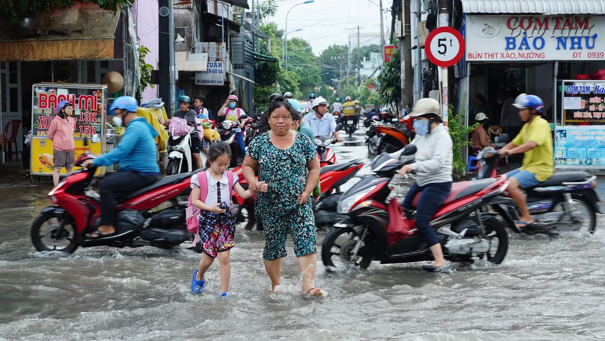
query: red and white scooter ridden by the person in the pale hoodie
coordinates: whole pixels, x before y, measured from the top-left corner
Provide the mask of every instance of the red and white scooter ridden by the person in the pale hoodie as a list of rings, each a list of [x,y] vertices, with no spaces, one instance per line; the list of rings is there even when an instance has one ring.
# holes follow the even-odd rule
[[[407,145],[401,151],[403,156],[414,153],[415,145]],[[407,233],[389,227],[386,200],[393,188],[389,182],[402,165],[389,154],[382,154],[372,162],[375,174],[362,177],[343,194],[338,212],[348,218],[334,225],[321,250],[322,262],[329,270],[336,267],[335,261],[367,268],[372,260],[408,263],[433,259],[424,237],[414,226],[414,211],[404,211],[401,219]],[[450,195],[431,221],[446,259],[473,262],[479,257],[496,264],[504,260],[508,251],[506,222],[481,209],[498,199],[508,184],[506,176],[500,176],[452,185]],[[419,196],[414,199],[414,206]]]

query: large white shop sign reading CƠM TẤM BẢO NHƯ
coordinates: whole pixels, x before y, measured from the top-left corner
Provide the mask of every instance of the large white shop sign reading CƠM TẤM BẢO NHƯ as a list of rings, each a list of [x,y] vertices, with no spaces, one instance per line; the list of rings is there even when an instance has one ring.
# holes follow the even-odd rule
[[[603,16],[466,16],[466,61],[601,61]]]

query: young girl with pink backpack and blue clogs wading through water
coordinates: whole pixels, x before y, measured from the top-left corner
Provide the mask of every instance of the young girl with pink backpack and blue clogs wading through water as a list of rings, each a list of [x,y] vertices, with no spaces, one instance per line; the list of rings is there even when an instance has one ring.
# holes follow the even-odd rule
[[[235,245],[235,217],[231,212],[231,191],[235,190],[244,199],[255,194],[250,190],[244,190],[238,183],[237,175],[227,170],[229,161],[231,161],[231,148],[225,142],[218,141],[208,150],[206,171],[191,177],[191,204],[201,210],[198,242],[201,243],[204,251],[198,268],[193,273],[192,293],[203,293],[206,283],[204,274],[218,256],[221,275],[219,297],[227,296],[229,277],[231,277],[229,253]],[[206,182],[205,188],[208,194],[205,198],[200,197],[200,182]],[[267,185],[263,183],[260,191],[267,191]]]

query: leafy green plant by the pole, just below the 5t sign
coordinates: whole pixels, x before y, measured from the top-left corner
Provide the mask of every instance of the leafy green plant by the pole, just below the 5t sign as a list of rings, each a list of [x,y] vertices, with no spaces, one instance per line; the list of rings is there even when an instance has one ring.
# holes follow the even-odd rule
[[[466,93],[462,97],[461,103],[466,103]],[[450,136],[452,138],[454,152],[454,159],[452,165],[454,171],[464,173],[466,171],[466,159],[462,158],[462,151],[468,148],[471,141],[468,140],[468,134],[475,130],[479,124],[476,123],[471,127],[464,125],[464,118],[466,117],[466,109],[463,105],[460,105],[460,112],[454,117],[454,105],[448,106],[448,128],[450,128]]]

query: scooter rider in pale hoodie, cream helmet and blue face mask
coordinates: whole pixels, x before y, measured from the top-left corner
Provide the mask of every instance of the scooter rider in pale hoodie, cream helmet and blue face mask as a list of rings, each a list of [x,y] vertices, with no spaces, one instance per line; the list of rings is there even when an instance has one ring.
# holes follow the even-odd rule
[[[443,126],[440,111],[440,104],[435,99],[423,98],[416,102],[410,113],[416,131],[416,138],[410,144],[416,145],[416,160],[399,170],[402,175],[416,172],[416,182],[405,196],[402,206],[410,210],[414,197],[420,193],[414,220],[435,259],[433,265],[422,266],[431,272],[449,270],[437,233],[431,226],[431,219],[450,194],[452,185],[453,143],[448,128]]]

